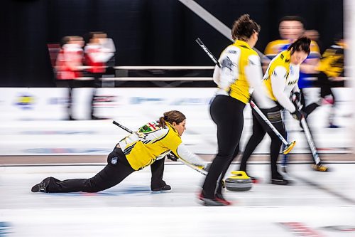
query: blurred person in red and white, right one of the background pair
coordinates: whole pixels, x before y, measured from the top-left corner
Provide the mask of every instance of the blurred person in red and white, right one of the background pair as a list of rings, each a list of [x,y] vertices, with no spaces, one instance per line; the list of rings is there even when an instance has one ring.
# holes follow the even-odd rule
[[[92,93],[91,100],[91,119],[97,120],[99,117],[94,115],[94,98],[96,94],[96,88],[101,87],[102,75],[106,72],[106,63],[114,56],[116,51],[114,43],[111,38],[107,38],[107,34],[104,32],[91,32],[89,33],[89,43],[84,48],[85,64],[89,66],[87,71],[94,78],[92,87],[94,91]]]

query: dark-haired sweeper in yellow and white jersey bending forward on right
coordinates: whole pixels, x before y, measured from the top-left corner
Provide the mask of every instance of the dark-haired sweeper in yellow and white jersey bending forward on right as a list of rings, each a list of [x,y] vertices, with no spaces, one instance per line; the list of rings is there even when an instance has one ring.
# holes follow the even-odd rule
[[[300,89],[297,86],[300,77],[300,64],[310,54],[310,43],[310,38],[298,38],[287,50],[282,51],[271,60],[263,77],[263,83],[268,90],[268,97],[275,101],[277,105],[261,111],[283,137],[286,132],[281,115],[283,109],[288,110],[297,120],[307,116],[290,100],[290,95],[294,93],[297,100],[300,100]],[[271,184],[287,185],[289,180],[278,172],[276,164],[282,142],[255,111],[253,111],[253,135],[246,144],[239,170],[246,172],[246,162],[266,133],[271,137]]]

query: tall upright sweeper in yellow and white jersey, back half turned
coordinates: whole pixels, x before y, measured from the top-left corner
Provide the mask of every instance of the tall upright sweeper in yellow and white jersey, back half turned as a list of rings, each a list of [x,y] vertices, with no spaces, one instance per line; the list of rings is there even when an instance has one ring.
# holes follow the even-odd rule
[[[263,74],[260,58],[253,50],[258,41],[260,26],[244,14],[234,21],[231,31],[233,44],[227,46],[219,57],[221,68],[214,69],[213,79],[218,85],[217,95],[209,107],[217,125],[218,154],[214,158],[199,199],[205,206],[226,206],[229,201],[222,195],[222,180],[236,154],[244,127],[244,107],[249,102],[253,88],[259,107],[275,105],[266,97],[261,83]]]

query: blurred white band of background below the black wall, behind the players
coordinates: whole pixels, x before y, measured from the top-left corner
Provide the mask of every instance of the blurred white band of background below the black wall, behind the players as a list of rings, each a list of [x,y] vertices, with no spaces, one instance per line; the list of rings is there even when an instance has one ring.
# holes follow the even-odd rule
[[[96,115],[107,120],[88,120],[92,89],[74,90],[75,121],[65,120],[65,88],[0,88],[0,155],[23,154],[107,154],[126,135],[111,122],[136,130],[145,122],[156,120],[168,110],[180,110],[187,117],[183,141],[199,154],[217,150],[216,127],[209,117],[209,102],[214,88],[100,88],[95,102]],[[310,127],[320,153],[347,153],[352,145],[351,88],[336,88],[336,123],[327,127],[330,105],[324,104],[310,115]],[[319,89],[307,90],[309,100],[316,100]],[[241,148],[251,135],[251,110],[244,112]],[[296,153],[309,153],[298,123],[286,116],[289,140],[295,139]],[[257,153],[267,153],[266,136]]]

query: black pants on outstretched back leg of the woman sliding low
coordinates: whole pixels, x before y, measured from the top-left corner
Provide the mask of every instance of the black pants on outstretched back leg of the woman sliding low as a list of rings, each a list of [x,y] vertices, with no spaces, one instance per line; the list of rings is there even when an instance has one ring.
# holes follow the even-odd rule
[[[63,181],[50,177],[50,183],[46,191],[50,193],[102,191],[119,184],[134,171],[121,148],[115,147],[107,157],[106,167],[94,177],[90,179],[66,179]]]

